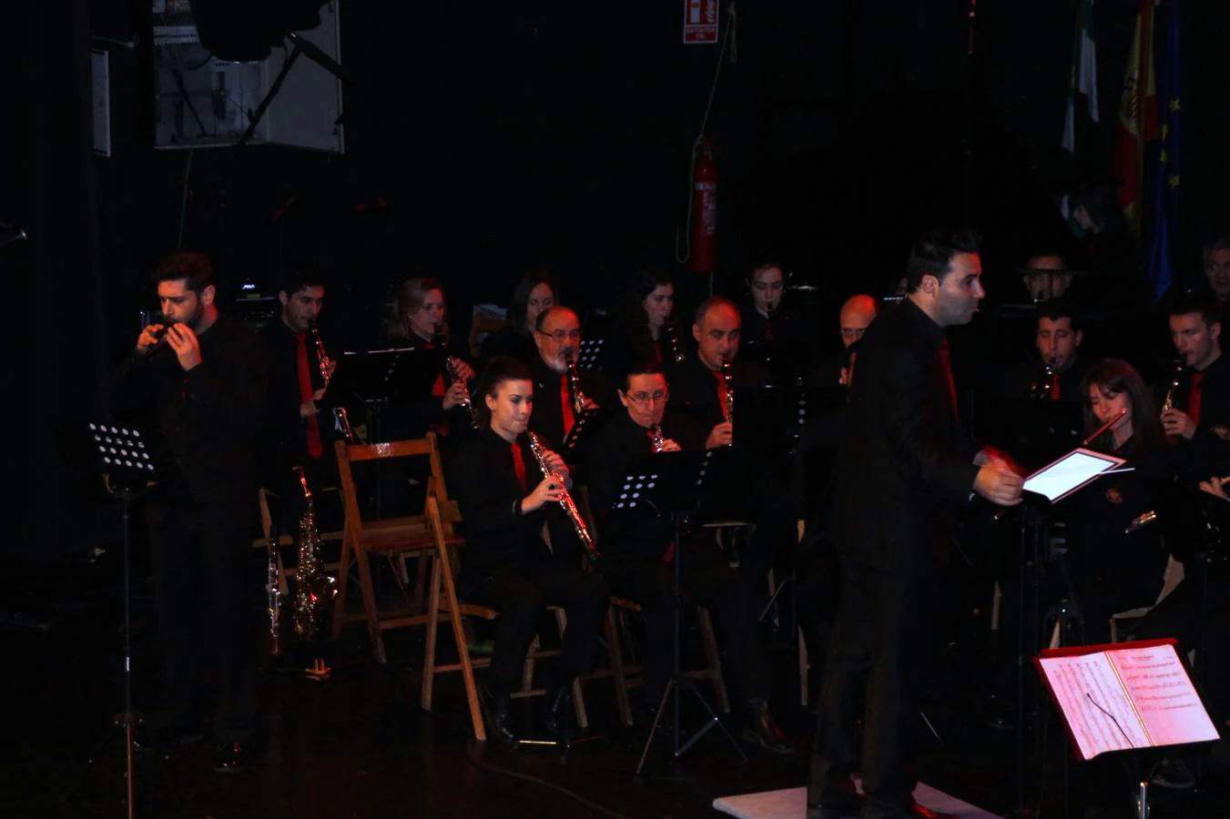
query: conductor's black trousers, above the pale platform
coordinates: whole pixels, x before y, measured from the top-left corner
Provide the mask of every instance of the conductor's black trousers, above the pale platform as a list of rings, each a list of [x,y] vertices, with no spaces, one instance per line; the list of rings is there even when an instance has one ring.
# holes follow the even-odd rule
[[[911,765],[918,600],[921,576],[884,572],[843,556],[841,605],[820,682],[808,781],[809,804],[839,786],[856,762],[856,703],[863,714],[863,818],[903,817],[916,780]],[[866,675],[866,676],[865,676]]]

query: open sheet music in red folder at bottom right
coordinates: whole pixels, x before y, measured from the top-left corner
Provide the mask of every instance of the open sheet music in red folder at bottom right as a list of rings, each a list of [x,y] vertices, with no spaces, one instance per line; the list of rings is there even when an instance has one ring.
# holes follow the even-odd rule
[[[1044,651],[1033,664],[1081,759],[1218,739],[1173,639]]]

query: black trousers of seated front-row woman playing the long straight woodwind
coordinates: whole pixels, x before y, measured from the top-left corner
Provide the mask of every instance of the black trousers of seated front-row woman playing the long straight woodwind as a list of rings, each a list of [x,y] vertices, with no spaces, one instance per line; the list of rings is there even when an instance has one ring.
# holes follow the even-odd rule
[[[531,566],[498,566],[466,584],[466,599],[499,611],[491,654],[492,690],[510,691],[525,662],[525,652],[549,605],[563,609],[563,630],[555,684],[565,685],[593,669],[594,648],[610,601],[606,582],[551,557]]]

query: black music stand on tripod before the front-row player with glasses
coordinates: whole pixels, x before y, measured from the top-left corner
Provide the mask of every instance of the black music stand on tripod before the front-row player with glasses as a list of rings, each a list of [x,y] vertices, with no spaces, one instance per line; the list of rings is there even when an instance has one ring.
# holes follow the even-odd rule
[[[683,566],[683,528],[688,513],[695,509],[705,491],[711,483],[705,480],[710,471],[712,450],[704,451],[676,451],[654,453],[637,456],[627,467],[627,475],[621,482],[615,501],[611,503],[611,514],[626,514],[633,509],[653,509],[658,514],[670,515],[674,528],[674,568],[675,568],[675,622],[674,622],[674,665],[670,679],[662,692],[658,702],[658,712],[653,716],[653,724],[649,727],[649,737],[645,742],[641,751],[641,760],[636,764],[637,781],[643,781],[645,764],[649,758],[649,748],[658,734],[658,723],[665,711],[667,701],[672,692],[674,696],[674,726],[673,726],[673,754],[675,759],[683,756],[689,748],[700,742],[700,738],[708,733],[715,726],[726,734],[726,739],[739,754],[743,761],[748,756],[743,753],[739,743],[731,732],[722,724],[717,713],[708,705],[705,695],[696,687],[695,680],[684,674],[679,662],[679,617],[683,605],[681,599],[681,566]],[[683,691],[691,691],[696,695],[705,711],[708,712],[708,722],[705,723],[688,742],[679,743],[679,710]]]

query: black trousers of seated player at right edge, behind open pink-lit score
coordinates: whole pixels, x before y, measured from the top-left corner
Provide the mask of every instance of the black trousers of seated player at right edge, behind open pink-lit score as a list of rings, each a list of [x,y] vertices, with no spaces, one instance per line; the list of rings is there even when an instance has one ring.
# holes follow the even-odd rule
[[[1132,633],[1133,639],[1161,637],[1177,639],[1183,653],[1196,649],[1194,676],[1204,705],[1213,724],[1225,732],[1230,719],[1230,577],[1205,578],[1199,571],[1186,576]]]

